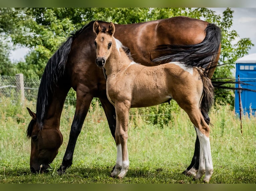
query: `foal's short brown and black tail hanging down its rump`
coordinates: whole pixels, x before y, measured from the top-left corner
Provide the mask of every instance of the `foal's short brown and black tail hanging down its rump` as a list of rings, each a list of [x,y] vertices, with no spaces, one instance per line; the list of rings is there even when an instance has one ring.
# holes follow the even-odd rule
[[[212,85],[212,81],[207,77],[205,69],[201,67],[196,67],[196,69],[201,75],[204,85],[203,98],[201,101],[200,108],[202,111],[209,113],[214,103],[214,87]]]

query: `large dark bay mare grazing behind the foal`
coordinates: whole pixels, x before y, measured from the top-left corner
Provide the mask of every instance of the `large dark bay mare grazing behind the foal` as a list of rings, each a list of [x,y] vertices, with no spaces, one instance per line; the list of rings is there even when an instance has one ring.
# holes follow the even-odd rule
[[[46,171],[49,163],[58,153],[58,148],[62,144],[59,130],[60,116],[70,88],[76,91],[76,111],[69,142],[58,172],[62,173],[72,165],[76,141],[93,97],[99,97],[109,128],[115,138],[115,108],[106,96],[103,70],[95,64],[93,42],[96,35],[93,32],[93,23],[90,22],[69,37],[45,67],[38,90],[36,113],[28,109],[32,116],[27,128],[27,136],[31,137],[32,172]],[[99,22],[99,24],[102,28],[109,26],[107,22]],[[220,29],[202,20],[181,16],[128,25],[115,24],[115,29],[115,37],[130,48],[134,60],[146,66],[155,66],[154,62],[158,61],[153,62],[153,60],[160,55],[166,54],[168,58],[173,55],[175,61],[197,60],[193,65],[210,67],[208,71],[210,78],[218,63]],[[159,60],[159,63],[161,62]],[[202,113],[208,122],[208,113],[206,111]],[[200,143],[197,137],[194,156],[184,173],[199,168],[199,151]]]

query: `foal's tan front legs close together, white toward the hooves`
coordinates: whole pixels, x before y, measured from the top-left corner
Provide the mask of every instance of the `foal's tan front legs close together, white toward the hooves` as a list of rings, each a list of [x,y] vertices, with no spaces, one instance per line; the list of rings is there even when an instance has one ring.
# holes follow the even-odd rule
[[[129,158],[127,149],[128,139],[128,120],[130,103],[116,103],[116,146],[117,146],[117,159],[114,171],[111,176],[117,176],[123,178],[129,169]]]

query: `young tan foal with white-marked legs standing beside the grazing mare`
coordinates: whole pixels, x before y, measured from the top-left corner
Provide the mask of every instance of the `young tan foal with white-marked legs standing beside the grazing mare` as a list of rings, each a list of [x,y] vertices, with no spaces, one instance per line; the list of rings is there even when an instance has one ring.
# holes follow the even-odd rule
[[[123,178],[129,168],[127,149],[128,120],[131,107],[148,107],[174,99],[186,111],[200,140],[199,170],[195,175],[209,182],[213,173],[209,133],[210,128],[200,108],[209,111],[214,100],[214,88],[205,70],[170,62],[154,67],[135,63],[127,56],[127,48],[114,38],[115,26],[101,30],[93,26],[97,37],[96,64],[104,67],[107,76],[107,97],[116,109],[117,159],[111,176]]]

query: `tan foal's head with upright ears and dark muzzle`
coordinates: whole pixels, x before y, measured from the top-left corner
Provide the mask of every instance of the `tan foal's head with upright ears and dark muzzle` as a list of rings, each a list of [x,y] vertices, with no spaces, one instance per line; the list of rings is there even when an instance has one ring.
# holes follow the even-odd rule
[[[96,47],[96,64],[98,67],[103,67],[112,51],[113,34],[115,26],[111,22],[108,29],[101,30],[98,21],[93,24],[93,32],[96,33],[94,45]]]

